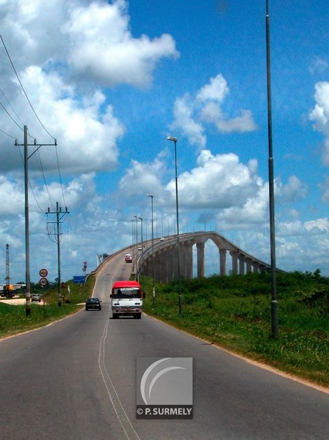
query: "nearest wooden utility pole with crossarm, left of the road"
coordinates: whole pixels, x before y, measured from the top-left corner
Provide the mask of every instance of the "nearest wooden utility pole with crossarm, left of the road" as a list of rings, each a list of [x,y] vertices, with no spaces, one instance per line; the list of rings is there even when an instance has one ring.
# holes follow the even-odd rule
[[[54,144],[37,144],[36,139],[34,139],[33,144],[27,144],[27,125],[24,125],[24,143],[18,144],[15,140],[15,146],[24,147],[24,188],[25,188],[25,284],[26,284],[26,303],[25,303],[25,314],[30,316],[31,314],[31,276],[30,276],[30,223],[29,223],[29,170],[28,170],[28,159],[38,151],[41,146],[56,146],[57,142],[55,139]],[[34,146],[34,151],[32,154],[28,153],[28,147]]]

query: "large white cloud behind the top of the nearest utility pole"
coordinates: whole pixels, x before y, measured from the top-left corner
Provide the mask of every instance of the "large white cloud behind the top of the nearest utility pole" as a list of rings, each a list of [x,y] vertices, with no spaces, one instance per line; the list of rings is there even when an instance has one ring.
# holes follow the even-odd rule
[[[115,168],[119,154],[117,141],[124,134],[124,126],[113,115],[111,105],[105,106],[101,114],[100,108],[104,106],[105,96],[100,91],[84,96],[82,100],[74,87],[66,85],[58,74],[46,74],[41,67],[36,66],[28,67],[21,79],[29,90],[36,113],[42,115],[43,124],[58,140],[58,156],[63,173]],[[19,100],[21,95],[17,90],[16,98],[12,100],[14,107],[20,107]],[[21,107],[21,112],[27,115],[25,120],[30,122],[30,133],[34,136],[40,133],[40,125],[36,118],[32,119],[32,111],[28,107]],[[37,141],[52,143],[45,132]],[[19,140],[19,143],[22,142]],[[1,161],[0,169],[21,168],[17,151],[12,149],[8,153]],[[56,169],[54,147],[44,146],[39,153],[45,170]],[[30,160],[30,166],[36,168],[34,159]]]

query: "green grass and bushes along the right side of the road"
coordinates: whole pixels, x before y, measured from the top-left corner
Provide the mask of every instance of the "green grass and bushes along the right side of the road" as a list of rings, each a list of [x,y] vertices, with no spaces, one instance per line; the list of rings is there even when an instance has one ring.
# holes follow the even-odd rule
[[[277,274],[279,338],[271,338],[271,275],[210,276],[152,285],[144,311],[247,358],[329,386],[329,278],[315,272]]]

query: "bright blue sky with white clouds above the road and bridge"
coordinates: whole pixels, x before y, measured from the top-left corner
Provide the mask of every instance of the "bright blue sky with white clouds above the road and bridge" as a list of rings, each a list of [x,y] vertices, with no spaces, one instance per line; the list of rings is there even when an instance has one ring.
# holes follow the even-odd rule
[[[329,276],[328,2],[269,12],[277,267]],[[181,232],[270,262],[265,14],[265,0],[0,0],[0,284],[7,243],[25,280],[24,125],[43,144],[28,147],[32,281],[57,276],[56,202],[65,280],[130,245],[134,215],[150,239],[148,193],[155,235],[174,234],[168,135]]]

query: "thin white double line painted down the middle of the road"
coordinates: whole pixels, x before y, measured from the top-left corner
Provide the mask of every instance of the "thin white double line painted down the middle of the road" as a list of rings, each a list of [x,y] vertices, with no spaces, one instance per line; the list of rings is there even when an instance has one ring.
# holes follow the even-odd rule
[[[122,427],[122,430],[124,431],[124,434],[126,434],[126,438],[128,440],[133,440],[133,439],[141,440],[139,435],[137,434],[135,428],[133,427],[133,425],[132,425],[132,423],[131,423],[131,421],[130,421],[127,413],[126,413],[126,411],[124,410],[124,406],[122,405],[120,397],[117,395],[117,391],[115,389],[115,386],[114,386],[114,384],[113,384],[113,382],[111,380],[109,372],[106,369],[106,364],[105,364],[105,340],[106,340],[106,337],[107,337],[108,328],[109,328],[109,320],[106,320],[106,325],[104,327],[102,338],[100,339],[100,353],[99,353],[99,356],[98,356],[98,366],[100,368],[100,373],[102,375],[102,379],[103,379],[106,391],[107,391],[107,393],[108,393],[108,395],[110,397],[111,404],[113,406],[113,410],[115,412],[115,415],[117,416],[117,419],[119,420],[119,423],[120,423],[120,425]],[[103,371],[103,369],[104,369],[104,371]],[[106,383],[106,377],[104,377],[104,373],[105,373],[107,379],[109,380],[109,383],[111,384],[111,387],[113,388],[113,391],[115,393],[117,402],[115,402],[114,396],[111,394],[109,386]],[[121,407],[121,410],[123,412],[123,415],[119,414],[120,407]],[[126,422],[126,423],[128,422],[128,428],[129,428],[129,426],[131,427],[131,430],[133,431],[132,432],[132,434],[133,434],[132,436],[129,435],[127,430],[126,430],[126,428],[124,428],[124,422]]]

